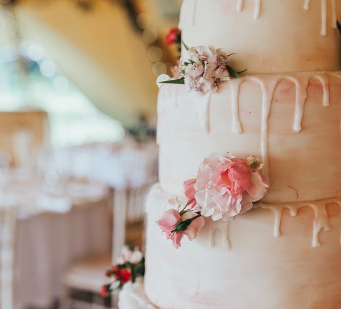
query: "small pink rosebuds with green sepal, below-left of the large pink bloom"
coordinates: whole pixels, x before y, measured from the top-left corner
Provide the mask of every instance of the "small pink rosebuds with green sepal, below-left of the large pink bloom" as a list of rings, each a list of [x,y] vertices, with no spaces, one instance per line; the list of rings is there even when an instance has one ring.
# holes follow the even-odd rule
[[[174,200],[170,200],[169,204],[174,206]],[[189,240],[196,238],[198,232],[204,226],[204,219],[194,211],[184,209],[179,212],[179,210],[171,208],[165,211],[156,223],[166,233],[167,239],[171,239],[174,247],[178,249],[184,235],[187,235]],[[180,226],[181,228],[179,228]]]

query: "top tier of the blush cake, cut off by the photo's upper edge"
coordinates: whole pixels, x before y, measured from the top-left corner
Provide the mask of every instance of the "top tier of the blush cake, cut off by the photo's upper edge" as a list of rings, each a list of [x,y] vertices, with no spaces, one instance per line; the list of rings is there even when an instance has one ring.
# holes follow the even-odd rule
[[[239,71],[335,71],[340,17],[341,0],[184,0],[179,28],[190,47],[236,53],[231,64]]]

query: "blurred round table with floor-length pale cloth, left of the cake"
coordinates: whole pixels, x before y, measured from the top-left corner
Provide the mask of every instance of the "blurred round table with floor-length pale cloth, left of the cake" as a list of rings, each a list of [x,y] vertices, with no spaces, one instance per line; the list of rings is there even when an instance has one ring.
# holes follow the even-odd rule
[[[10,207],[16,206],[14,309],[51,307],[62,296],[61,274],[67,266],[111,248],[107,187],[73,181],[51,196],[51,188],[42,190],[38,183],[26,180],[11,186],[15,195]]]

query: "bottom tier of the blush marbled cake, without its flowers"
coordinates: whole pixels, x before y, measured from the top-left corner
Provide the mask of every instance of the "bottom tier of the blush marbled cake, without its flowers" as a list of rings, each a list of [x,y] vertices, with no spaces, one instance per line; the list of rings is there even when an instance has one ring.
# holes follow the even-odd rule
[[[230,224],[206,219],[198,237],[184,237],[179,249],[155,223],[169,198],[155,185],[147,201],[144,284],[157,307],[341,308],[337,198],[255,205]]]

